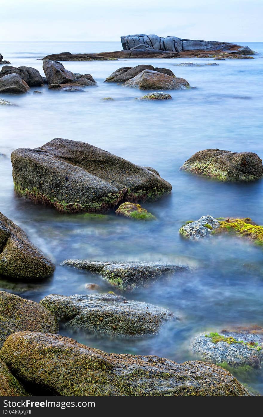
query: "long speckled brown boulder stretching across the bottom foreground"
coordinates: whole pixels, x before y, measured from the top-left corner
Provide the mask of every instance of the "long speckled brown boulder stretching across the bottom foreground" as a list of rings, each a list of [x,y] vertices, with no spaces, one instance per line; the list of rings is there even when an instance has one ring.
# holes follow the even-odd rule
[[[14,333],[0,357],[22,382],[54,395],[250,395],[233,375],[214,364],[108,354],[56,334]]]

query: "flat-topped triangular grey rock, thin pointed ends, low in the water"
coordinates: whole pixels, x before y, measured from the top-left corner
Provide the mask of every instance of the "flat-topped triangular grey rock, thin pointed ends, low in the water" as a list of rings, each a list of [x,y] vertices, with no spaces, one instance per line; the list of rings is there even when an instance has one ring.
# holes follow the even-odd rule
[[[155,282],[161,276],[189,271],[184,265],[161,264],[158,262],[100,262],[88,259],[66,259],[61,265],[100,274],[119,291],[132,291]]]

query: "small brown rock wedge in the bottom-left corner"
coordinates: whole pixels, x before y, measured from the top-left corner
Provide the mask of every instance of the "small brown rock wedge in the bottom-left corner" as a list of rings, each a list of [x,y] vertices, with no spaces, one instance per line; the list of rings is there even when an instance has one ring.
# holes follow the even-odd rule
[[[25,388],[11,374],[6,364],[0,360],[0,397],[28,396]]]

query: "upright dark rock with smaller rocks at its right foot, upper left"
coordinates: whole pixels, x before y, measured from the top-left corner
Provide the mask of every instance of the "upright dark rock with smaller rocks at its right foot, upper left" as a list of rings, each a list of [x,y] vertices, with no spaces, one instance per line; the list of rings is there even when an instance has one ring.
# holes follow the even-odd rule
[[[95,86],[96,81],[91,74],[74,74],[68,71],[57,61],[44,60],[43,70],[47,77],[49,88],[65,90],[65,88],[79,88],[83,86]]]

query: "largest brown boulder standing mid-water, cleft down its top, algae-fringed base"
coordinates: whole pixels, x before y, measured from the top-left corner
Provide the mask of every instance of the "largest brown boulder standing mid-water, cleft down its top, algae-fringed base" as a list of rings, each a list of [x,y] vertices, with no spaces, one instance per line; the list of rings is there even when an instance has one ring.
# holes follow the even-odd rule
[[[172,189],[152,171],[84,142],[56,138],[13,151],[11,161],[15,190],[61,212],[99,213],[124,198],[146,201]]]

